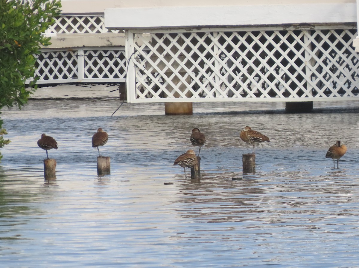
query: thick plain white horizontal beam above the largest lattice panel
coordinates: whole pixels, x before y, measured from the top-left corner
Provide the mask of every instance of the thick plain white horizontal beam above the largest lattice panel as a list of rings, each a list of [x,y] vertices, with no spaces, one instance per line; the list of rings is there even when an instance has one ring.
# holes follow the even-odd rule
[[[110,29],[356,21],[355,3],[105,9],[105,26]]]

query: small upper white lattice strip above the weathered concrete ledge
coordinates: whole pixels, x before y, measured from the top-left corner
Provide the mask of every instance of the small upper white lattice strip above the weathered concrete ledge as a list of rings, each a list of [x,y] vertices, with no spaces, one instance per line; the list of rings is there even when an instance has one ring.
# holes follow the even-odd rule
[[[104,16],[58,16],[50,26],[49,33],[83,34],[83,33],[118,33],[119,30],[105,28]],[[122,31],[121,31],[122,32]]]

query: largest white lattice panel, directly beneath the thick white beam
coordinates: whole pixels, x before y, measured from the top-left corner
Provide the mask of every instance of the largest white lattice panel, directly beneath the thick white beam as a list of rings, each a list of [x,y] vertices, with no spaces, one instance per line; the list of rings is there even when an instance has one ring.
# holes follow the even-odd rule
[[[128,31],[129,101],[358,97],[356,32],[350,26]]]

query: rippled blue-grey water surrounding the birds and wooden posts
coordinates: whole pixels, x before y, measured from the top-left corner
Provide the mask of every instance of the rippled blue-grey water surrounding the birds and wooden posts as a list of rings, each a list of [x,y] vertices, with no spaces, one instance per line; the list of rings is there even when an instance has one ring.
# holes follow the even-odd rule
[[[38,100],[3,110],[12,142],[1,149],[1,267],[358,267],[358,101],[310,114],[195,103],[192,116],[124,104],[110,117],[118,105]],[[271,142],[256,148],[256,173],[243,175],[247,125]],[[98,127],[111,157],[102,177],[91,147]],[[173,166],[193,148],[194,127],[207,138],[200,179]],[[48,152],[53,181],[43,179],[41,133],[59,143]],[[339,170],[325,158],[336,140],[348,146]]]

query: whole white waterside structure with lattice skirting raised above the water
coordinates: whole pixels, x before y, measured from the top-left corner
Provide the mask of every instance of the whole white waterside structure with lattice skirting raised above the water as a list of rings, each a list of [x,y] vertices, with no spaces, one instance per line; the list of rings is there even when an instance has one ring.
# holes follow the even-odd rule
[[[127,102],[281,101],[291,111],[359,97],[356,1],[202,2],[63,1],[38,83],[126,83]]]

